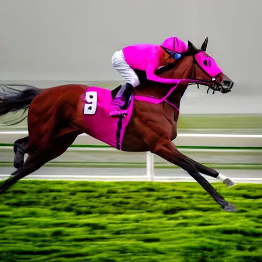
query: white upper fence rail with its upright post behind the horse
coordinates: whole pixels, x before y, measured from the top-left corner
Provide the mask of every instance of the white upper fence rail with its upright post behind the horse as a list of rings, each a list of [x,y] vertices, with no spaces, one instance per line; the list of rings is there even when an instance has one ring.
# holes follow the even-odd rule
[[[11,131],[0,131],[0,143],[1,144],[13,144],[15,140],[23,138],[28,135],[27,131],[22,130],[11,130]],[[178,137],[173,141],[179,146],[188,147],[230,147],[231,150],[234,148],[254,148],[253,151],[260,151],[262,147],[262,135],[242,135],[242,134],[179,134]],[[106,145],[105,143],[94,139],[93,137],[82,134],[77,137],[73,143],[74,145]],[[77,150],[79,150],[78,148]],[[94,150],[95,148],[81,148],[82,150]],[[98,149],[98,148],[97,148]],[[69,150],[74,150],[70,148]],[[112,147],[99,148],[98,150],[112,151],[117,150]],[[198,150],[198,149],[190,149]],[[208,149],[209,151],[217,149]],[[228,150],[228,149],[220,149]],[[247,149],[244,149],[247,151]],[[252,151],[251,150],[251,151]],[[239,151],[239,149],[237,149]],[[146,153],[146,177],[148,181],[154,181],[155,177],[154,167],[154,154],[151,152]]]

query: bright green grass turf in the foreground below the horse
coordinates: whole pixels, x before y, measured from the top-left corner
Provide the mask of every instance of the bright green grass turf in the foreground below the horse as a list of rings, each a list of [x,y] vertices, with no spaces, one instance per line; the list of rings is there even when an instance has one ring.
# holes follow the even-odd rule
[[[0,261],[262,261],[262,184],[19,181],[0,196]]]

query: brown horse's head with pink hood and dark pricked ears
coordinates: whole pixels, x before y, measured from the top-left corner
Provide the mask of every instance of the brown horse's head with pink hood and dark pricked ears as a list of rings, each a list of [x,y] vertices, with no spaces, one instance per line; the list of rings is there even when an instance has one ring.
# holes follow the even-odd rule
[[[213,91],[228,93],[233,87],[233,81],[228,78],[218,67],[215,60],[206,53],[208,38],[202,44],[201,49],[196,48],[188,41],[188,50],[183,56],[171,65],[159,70],[161,77],[181,79],[188,84],[202,84]]]

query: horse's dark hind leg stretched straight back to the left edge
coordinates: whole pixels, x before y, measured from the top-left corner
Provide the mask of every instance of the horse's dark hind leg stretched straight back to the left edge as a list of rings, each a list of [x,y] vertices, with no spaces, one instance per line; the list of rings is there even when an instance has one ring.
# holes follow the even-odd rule
[[[9,187],[15,184],[18,180],[36,171],[42,165],[46,164],[48,161],[62,155],[63,152],[67,150],[67,148],[74,142],[74,140],[79,134],[80,133],[76,131],[71,131],[70,133],[63,134],[55,138],[53,146],[35,152],[34,154],[29,154],[24,166],[14,171],[13,176],[11,178],[8,178],[3,184],[1,184],[0,194],[3,194]]]

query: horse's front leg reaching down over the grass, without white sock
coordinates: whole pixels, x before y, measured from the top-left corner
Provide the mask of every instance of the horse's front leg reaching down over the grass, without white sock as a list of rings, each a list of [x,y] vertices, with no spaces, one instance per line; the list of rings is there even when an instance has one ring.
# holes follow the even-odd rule
[[[197,167],[187,157],[185,157],[168,139],[160,139],[158,143],[152,143],[150,151],[168,162],[175,164],[187,171],[225,211],[235,211],[236,208],[228,203],[220,193],[199,173]]]

